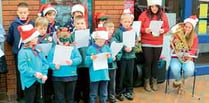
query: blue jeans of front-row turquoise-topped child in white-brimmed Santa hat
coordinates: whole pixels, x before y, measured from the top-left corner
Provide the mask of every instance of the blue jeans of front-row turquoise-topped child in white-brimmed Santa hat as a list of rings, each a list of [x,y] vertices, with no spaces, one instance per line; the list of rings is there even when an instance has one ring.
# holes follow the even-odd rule
[[[96,103],[98,91],[99,91],[99,103],[106,103],[107,86],[108,86],[108,81],[91,82],[89,103]]]

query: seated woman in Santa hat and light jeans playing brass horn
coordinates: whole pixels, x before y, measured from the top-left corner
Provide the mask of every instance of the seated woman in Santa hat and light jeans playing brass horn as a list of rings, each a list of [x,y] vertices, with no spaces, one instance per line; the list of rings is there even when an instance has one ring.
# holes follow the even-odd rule
[[[194,72],[193,56],[196,55],[198,48],[198,38],[194,31],[198,22],[196,16],[190,16],[184,23],[178,24],[174,29],[171,49],[173,50],[170,61],[170,68],[174,74],[174,87],[183,89],[184,79],[192,76]],[[181,73],[183,70],[183,73]],[[180,92],[180,91],[179,91]]]

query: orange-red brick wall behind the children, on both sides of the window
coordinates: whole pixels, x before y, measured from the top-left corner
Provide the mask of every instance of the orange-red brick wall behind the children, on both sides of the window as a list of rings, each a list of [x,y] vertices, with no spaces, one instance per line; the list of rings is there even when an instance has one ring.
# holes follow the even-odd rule
[[[19,2],[26,2],[29,4],[30,18],[33,20],[37,17],[37,11],[40,6],[40,0],[2,0],[2,16],[3,26],[6,32],[8,31],[9,24],[16,17],[16,5]],[[119,26],[120,15],[123,12],[124,0],[93,0],[93,14],[94,12],[104,12],[111,17],[116,27]],[[16,94],[16,70],[11,46],[5,42],[5,53],[8,63],[9,73],[0,75],[0,92],[4,91],[8,96]]]

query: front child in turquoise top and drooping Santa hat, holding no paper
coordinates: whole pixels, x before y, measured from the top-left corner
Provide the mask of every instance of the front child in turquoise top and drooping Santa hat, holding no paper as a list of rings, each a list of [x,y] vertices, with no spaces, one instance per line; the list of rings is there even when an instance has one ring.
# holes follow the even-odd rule
[[[21,76],[25,103],[40,103],[40,83],[47,80],[48,62],[41,50],[36,48],[39,32],[32,25],[18,27],[24,46],[18,53],[18,69]]]

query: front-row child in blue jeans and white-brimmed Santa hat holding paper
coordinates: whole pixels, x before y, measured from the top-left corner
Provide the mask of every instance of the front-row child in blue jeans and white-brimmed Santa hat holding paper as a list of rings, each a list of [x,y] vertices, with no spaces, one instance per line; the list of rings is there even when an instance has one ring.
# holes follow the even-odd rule
[[[105,45],[105,41],[108,39],[108,33],[106,31],[95,31],[92,37],[95,43],[88,47],[85,59],[85,63],[89,66],[90,74],[89,103],[96,103],[98,91],[100,103],[106,103],[109,80],[108,67],[95,70],[96,68],[93,66],[93,62],[97,59],[97,54],[100,53],[106,53],[108,63],[113,61],[111,50],[108,45]]]

